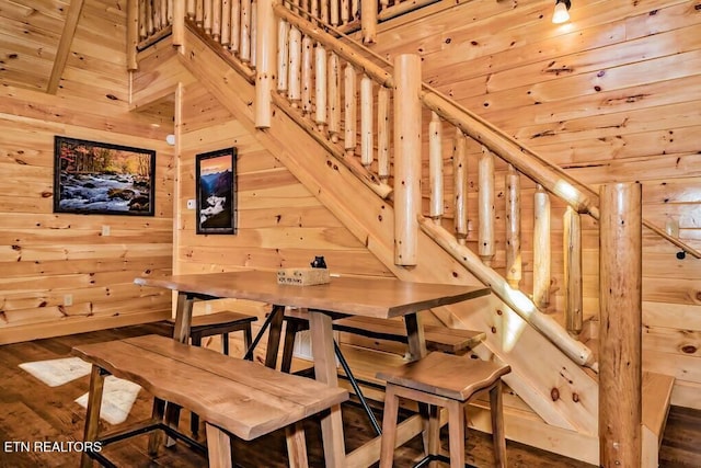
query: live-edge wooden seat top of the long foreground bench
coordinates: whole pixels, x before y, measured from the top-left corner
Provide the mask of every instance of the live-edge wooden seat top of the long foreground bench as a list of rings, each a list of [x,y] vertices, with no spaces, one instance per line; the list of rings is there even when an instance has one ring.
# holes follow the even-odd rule
[[[79,345],[72,353],[93,364],[93,380],[95,367],[106,370],[244,441],[289,426],[348,398],[340,388],[160,335]],[[91,399],[96,398],[93,386],[91,381]],[[88,412],[89,423],[90,406]],[[91,431],[96,436],[96,427]],[[91,431],[87,424],[87,441],[96,440],[89,438]]]

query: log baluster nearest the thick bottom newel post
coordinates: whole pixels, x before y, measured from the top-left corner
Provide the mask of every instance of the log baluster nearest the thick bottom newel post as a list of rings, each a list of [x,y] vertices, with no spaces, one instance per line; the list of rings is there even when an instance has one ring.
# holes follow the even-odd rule
[[[582,217],[565,208],[563,220],[565,324],[573,338],[579,336],[583,320],[582,299]]]

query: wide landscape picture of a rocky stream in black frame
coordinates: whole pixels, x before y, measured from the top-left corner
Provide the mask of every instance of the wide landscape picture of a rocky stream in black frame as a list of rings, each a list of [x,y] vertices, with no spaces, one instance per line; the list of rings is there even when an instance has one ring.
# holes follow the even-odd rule
[[[153,216],[156,151],[55,136],[54,213]]]

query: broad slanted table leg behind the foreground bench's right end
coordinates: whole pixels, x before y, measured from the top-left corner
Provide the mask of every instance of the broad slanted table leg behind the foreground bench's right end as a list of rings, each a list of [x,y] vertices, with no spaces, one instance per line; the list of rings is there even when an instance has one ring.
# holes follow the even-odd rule
[[[336,359],[333,349],[331,317],[321,311],[309,310],[309,330],[317,380],[323,381],[330,387],[337,387],[338,376],[336,374]],[[332,407],[330,413],[321,420],[321,434],[326,467],[345,467],[346,456],[343,442],[341,404]]]

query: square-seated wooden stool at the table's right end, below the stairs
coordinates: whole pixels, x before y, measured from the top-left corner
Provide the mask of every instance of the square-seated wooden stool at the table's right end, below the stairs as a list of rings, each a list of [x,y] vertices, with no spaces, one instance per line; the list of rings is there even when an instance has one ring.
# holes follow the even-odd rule
[[[397,440],[399,397],[443,407],[448,411],[450,467],[464,467],[466,407],[482,390],[490,391],[495,466],[506,467],[506,440],[502,413],[502,379],[508,365],[433,352],[412,363],[377,374],[387,380],[380,468],[390,468]],[[430,411],[427,458],[440,459],[440,413]]]

